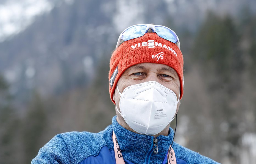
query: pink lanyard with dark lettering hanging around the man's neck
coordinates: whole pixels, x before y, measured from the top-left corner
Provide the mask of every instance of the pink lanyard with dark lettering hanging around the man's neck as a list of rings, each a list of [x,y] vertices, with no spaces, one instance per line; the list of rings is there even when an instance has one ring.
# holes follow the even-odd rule
[[[121,149],[120,149],[119,144],[117,142],[116,134],[115,134],[114,131],[113,131],[113,135],[112,135],[112,140],[113,140],[113,143],[114,143],[116,164],[125,164],[124,163],[124,158],[123,158],[123,155],[121,153]],[[174,150],[171,148],[171,145],[168,149],[167,158],[168,158],[168,164],[176,164],[175,153],[174,153]],[[164,162],[165,161],[166,160],[164,160]]]

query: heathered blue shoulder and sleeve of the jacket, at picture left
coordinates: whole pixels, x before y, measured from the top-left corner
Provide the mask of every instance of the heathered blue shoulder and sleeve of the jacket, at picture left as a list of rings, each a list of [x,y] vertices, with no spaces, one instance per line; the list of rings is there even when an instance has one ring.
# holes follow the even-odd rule
[[[111,130],[111,125],[99,133],[67,132],[57,134],[39,150],[38,155],[31,163],[77,164],[89,156],[97,156],[101,148],[107,145],[105,137],[109,130]]]

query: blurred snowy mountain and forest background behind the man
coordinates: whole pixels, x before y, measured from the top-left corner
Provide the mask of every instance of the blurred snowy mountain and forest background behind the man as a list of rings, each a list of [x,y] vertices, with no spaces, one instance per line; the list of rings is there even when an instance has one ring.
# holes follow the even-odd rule
[[[255,0],[1,0],[1,164],[30,163],[58,133],[111,124],[109,60],[134,24],[179,36],[175,141],[220,163],[256,163]]]

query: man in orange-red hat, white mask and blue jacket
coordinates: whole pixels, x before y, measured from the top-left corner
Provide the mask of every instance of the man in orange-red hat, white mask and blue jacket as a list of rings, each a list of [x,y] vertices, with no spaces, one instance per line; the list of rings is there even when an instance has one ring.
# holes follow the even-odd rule
[[[217,163],[173,142],[169,127],[183,96],[177,35],[159,25],[134,25],[110,59],[109,92],[117,116],[99,133],[56,135],[32,163]]]

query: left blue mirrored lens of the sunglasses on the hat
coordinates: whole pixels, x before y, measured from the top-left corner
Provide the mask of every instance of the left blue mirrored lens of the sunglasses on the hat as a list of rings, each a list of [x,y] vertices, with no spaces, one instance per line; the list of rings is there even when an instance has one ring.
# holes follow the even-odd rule
[[[143,36],[146,33],[146,26],[144,25],[137,25],[133,26],[126,31],[123,32],[123,39],[124,41],[128,41],[130,39],[138,38]]]

